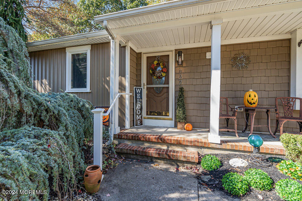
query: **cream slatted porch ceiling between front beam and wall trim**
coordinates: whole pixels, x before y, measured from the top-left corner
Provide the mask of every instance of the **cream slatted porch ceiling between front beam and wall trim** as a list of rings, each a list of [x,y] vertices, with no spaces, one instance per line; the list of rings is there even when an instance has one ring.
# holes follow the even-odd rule
[[[289,34],[299,28],[302,28],[302,11],[232,20],[223,22],[221,25],[221,40],[280,34],[289,38]],[[209,42],[211,40],[211,30],[210,24],[200,24],[121,37],[125,41],[131,41],[137,48],[149,48]]]

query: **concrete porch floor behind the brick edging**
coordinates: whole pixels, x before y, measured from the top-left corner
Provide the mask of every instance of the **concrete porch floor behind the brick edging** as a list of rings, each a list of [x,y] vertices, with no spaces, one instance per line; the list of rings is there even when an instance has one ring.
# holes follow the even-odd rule
[[[122,130],[122,129],[121,129]],[[207,139],[208,131],[207,129],[192,129],[191,131],[178,130],[174,127],[160,127],[160,126],[140,126],[132,127],[127,129],[128,133],[141,133],[141,134],[151,134],[151,135],[164,135],[164,136],[175,136],[175,137],[191,137],[198,139]],[[279,141],[279,135],[277,138],[272,137],[269,133],[253,133],[262,137],[264,143],[269,145],[282,145]],[[249,133],[243,133],[238,131],[238,138],[234,132],[224,132],[220,131],[219,135],[221,140],[228,140],[232,142],[248,142],[247,138]]]

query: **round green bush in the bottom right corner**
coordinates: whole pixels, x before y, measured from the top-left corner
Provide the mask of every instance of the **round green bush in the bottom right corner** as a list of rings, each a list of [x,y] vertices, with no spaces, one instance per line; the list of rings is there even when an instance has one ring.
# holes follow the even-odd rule
[[[292,179],[281,179],[276,183],[275,191],[284,200],[302,200],[302,185]]]

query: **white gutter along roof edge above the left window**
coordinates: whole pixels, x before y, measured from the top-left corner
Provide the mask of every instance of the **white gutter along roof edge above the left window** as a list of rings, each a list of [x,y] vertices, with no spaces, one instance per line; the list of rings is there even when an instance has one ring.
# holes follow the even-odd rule
[[[60,38],[40,40],[40,41],[35,41],[35,42],[27,42],[25,44],[27,47],[47,46],[47,45],[53,45],[53,44],[58,44],[58,43],[64,43],[64,42],[79,41],[82,39],[93,39],[93,38],[103,38],[103,37],[109,37],[106,30],[94,31],[94,32],[89,32],[89,33],[81,33],[81,34],[76,34],[76,35],[72,35],[72,36],[64,36],[64,37],[60,37]]]

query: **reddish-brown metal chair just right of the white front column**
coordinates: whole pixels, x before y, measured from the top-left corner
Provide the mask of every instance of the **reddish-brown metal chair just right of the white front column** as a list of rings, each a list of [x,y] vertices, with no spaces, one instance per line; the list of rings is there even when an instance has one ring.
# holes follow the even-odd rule
[[[226,100],[226,114],[222,113],[222,105],[223,105],[223,100],[224,99]],[[230,111],[233,111],[232,115],[229,115],[229,108],[230,108]],[[232,108],[232,107],[229,106],[229,99],[228,98],[220,97],[219,119],[225,119],[226,120],[226,127],[219,128],[219,130],[227,130],[228,132],[235,131],[235,134],[238,137],[236,115],[237,115],[237,108]],[[230,119],[234,120],[235,129],[230,129],[229,128],[229,120]]]

